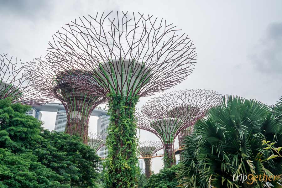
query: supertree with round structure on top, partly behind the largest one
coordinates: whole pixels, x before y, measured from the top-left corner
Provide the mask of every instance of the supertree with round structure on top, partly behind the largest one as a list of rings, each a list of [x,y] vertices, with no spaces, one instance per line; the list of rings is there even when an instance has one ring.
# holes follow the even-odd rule
[[[85,93],[79,90],[78,79],[95,87],[91,81],[91,74],[75,67],[67,67],[65,71],[56,72],[49,62],[36,58],[29,63],[28,72],[34,86],[54,99],[60,100],[65,107],[67,123],[65,133],[78,135],[87,144],[88,122],[95,107],[105,102],[105,97],[94,93]],[[80,75],[78,77],[77,75]]]

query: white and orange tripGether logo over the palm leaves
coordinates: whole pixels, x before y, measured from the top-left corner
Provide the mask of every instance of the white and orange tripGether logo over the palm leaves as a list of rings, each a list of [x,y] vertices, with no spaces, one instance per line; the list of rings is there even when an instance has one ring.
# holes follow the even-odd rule
[[[242,183],[244,183],[244,181],[247,180],[247,184],[249,185],[252,185],[253,182],[255,181],[274,181],[275,178],[278,177],[278,175],[270,175],[270,176],[267,176],[266,174],[264,175],[252,175],[252,174],[249,174],[249,175],[233,175],[233,181],[242,181]]]

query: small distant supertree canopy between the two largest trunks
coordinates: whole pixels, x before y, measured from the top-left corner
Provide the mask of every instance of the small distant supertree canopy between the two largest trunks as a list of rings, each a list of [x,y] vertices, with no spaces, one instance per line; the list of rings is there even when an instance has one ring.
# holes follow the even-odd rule
[[[90,132],[88,133],[88,145],[92,148],[95,149],[96,153],[97,151],[102,148],[106,144],[106,133],[95,133],[95,132]]]

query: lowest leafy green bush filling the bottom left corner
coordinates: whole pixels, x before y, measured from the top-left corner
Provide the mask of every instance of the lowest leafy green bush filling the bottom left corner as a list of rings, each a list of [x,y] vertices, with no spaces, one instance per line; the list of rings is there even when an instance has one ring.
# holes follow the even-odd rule
[[[0,187],[68,188],[59,181],[63,177],[46,168],[31,153],[13,154],[0,148]]]

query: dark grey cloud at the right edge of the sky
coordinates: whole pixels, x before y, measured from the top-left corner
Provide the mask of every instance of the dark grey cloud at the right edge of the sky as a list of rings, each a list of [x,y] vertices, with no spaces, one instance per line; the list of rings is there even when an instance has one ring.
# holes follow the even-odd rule
[[[249,58],[260,72],[282,74],[282,22],[269,25],[257,51]]]

